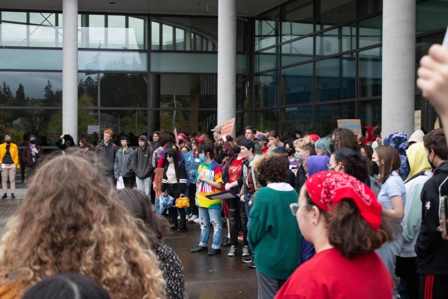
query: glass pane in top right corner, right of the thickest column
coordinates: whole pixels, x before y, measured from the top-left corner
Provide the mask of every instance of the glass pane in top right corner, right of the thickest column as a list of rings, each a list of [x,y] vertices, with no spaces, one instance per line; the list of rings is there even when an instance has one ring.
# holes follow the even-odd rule
[[[448,2],[427,0],[417,3],[416,33],[447,28]]]

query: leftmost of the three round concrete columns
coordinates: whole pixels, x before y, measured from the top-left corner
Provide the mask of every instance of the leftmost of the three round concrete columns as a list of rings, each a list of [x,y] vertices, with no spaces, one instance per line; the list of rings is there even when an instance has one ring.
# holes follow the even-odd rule
[[[62,1],[62,132],[78,142],[78,0]]]

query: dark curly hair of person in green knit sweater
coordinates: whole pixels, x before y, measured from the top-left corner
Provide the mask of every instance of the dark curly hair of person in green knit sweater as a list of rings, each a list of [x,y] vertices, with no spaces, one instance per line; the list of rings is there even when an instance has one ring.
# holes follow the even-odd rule
[[[288,178],[289,159],[284,154],[268,153],[254,164],[255,171],[266,182],[282,183]]]

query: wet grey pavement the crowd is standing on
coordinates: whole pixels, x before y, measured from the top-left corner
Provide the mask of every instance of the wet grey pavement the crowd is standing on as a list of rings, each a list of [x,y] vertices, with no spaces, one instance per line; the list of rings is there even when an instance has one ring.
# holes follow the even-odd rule
[[[16,189],[17,199],[0,199],[0,235],[4,232],[6,222],[16,214],[25,192],[24,188]],[[166,244],[177,252],[184,266],[186,298],[257,298],[255,269],[248,268],[248,264],[241,261],[241,246],[234,257],[227,256],[230,247],[223,247],[223,253],[216,256],[209,256],[207,252],[191,253],[190,249],[199,244],[201,228],[199,224],[188,223],[187,229],[183,233],[173,232],[165,239]],[[224,225],[223,237],[226,235]],[[212,234],[209,240],[211,248]]]

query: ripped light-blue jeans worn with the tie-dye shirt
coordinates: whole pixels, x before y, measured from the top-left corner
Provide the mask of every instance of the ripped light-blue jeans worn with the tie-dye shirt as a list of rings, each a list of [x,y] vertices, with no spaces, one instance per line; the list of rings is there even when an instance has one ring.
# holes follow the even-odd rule
[[[221,248],[221,237],[223,235],[223,224],[221,222],[221,209],[208,209],[199,207],[199,224],[201,225],[201,236],[199,246],[207,247],[210,235],[210,223],[213,226],[212,248]]]

